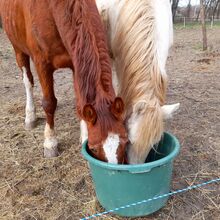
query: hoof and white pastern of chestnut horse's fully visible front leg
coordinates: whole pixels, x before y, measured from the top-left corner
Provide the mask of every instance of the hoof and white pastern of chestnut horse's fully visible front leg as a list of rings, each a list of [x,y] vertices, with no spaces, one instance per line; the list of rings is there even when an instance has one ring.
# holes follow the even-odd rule
[[[56,138],[46,138],[44,141],[44,157],[51,158],[59,156],[58,142]]]

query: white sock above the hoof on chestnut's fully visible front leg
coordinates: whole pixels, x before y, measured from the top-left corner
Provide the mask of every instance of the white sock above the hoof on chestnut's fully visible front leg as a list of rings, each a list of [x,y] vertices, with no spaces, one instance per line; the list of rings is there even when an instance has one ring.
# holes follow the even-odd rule
[[[44,147],[51,149],[57,148],[58,141],[54,132],[54,129],[51,129],[49,124],[46,123],[45,130],[44,130]]]

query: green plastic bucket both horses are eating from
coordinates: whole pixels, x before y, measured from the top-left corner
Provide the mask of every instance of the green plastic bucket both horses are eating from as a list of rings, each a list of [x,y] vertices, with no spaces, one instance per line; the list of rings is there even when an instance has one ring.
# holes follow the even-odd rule
[[[118,165],[99,161],[87,152],[87,142],[82,154],[88,160],[96,196],[106,210],[112,210],[170,192],[173,160],[180,145],[175,136],[164,133],[157,152],[151,151],[147,161],[138,165]],[[127,217],[149,215],[162,208],[168,197],[114,211]]]

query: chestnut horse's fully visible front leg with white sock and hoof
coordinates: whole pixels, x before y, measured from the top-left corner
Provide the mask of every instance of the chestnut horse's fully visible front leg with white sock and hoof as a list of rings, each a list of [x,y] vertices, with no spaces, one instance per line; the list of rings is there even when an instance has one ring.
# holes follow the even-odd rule
[[[43,92],[42,106],[46,113],[46,126],[44,130],[44,156],[56,157],[58,153],[58,141],[54,131],[54,114],[57,107],[57,99],[54,95],[53,68],[37,65],[37,72]]]

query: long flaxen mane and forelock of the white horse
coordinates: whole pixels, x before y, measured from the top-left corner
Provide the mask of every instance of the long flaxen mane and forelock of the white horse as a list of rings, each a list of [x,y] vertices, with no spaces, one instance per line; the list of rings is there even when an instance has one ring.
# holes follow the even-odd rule
[[[143,107],[142,123],[135,134],[138,141],[129,153],[134,161],[135,157],[144,161],[163,133],[161,106],[165,103],[166,74],[158,63],[155,22],[152,1],[126,1],[112,42],[126,117],[130,117],[136,103]]]

